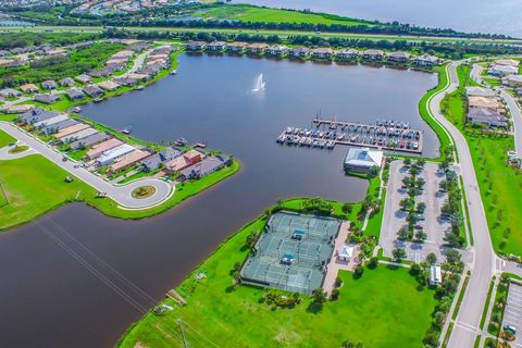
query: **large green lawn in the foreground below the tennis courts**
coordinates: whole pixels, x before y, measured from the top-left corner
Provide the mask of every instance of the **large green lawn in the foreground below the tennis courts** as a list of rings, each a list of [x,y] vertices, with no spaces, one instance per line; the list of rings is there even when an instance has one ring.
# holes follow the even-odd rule
[[[304,296],[295,308],[272,310],[262,300],[263,289],[232,288],[234,263],[247,257],[245,239],[264,223],[259,219],[244,227],[177,288],[188,304],[165,300],[174,311],[146,314],[119,346],[182,347],[178,318],[189,347],[339,347],[347,338],[372,348],[421,346],[436,300],[433,290],[417,289],[406,269],[380,265],[359,279],[341,272],[340,298],[320,311]],[[196,279],[201,271],[207,277]]]

